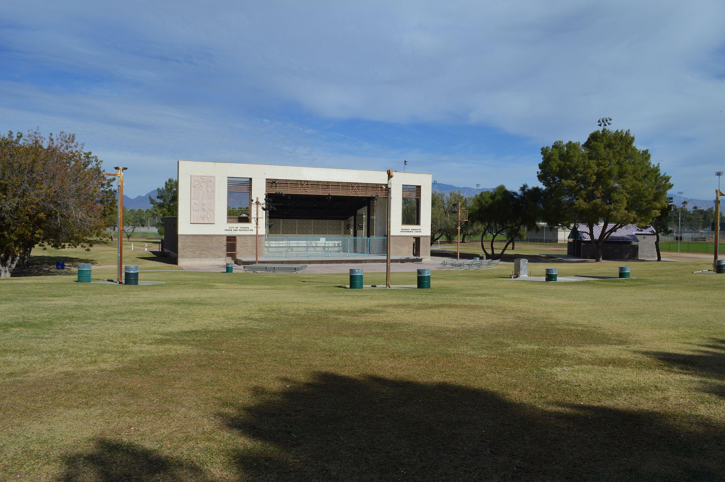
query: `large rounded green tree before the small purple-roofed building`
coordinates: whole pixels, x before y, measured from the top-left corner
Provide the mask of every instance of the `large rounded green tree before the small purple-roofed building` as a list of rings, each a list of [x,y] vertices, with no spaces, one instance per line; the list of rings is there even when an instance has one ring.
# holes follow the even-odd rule
[[[602,260],[602,246],[619,228],[645,226],[667,204],[670,176],[653,165],[650,152],[637,149],[629,130],[595,130],[584,144],[555,142],[542,147],[539,181],[547,191],[547,216],[555,224],[583,223]]]

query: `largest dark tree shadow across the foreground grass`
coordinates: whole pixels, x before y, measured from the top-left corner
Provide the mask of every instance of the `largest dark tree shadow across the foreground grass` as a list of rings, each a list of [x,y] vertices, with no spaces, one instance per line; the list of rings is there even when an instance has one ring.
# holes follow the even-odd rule
[[[223,415],[263,444],[235,455],[252,481],[720,481],[722,425],[655,412],[541,410],[490,391],[320,373]]]

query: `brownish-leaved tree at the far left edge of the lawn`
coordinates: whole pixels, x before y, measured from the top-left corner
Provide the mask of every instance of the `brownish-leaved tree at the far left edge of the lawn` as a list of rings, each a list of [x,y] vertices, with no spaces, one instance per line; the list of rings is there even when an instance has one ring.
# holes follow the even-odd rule
[[[0,277],[35,246],[88,249],[101,236],[112,180],[73,134],[0,136]]]

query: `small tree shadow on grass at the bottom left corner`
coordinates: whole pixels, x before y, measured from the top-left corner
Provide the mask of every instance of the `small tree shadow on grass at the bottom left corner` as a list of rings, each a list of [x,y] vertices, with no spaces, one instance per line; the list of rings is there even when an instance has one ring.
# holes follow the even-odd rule
[[[99,439],[91,452],[64,460],[62,482],[212,481],[197,465],[165,457],[152,449],[124,441]]]

